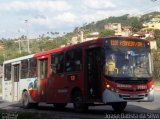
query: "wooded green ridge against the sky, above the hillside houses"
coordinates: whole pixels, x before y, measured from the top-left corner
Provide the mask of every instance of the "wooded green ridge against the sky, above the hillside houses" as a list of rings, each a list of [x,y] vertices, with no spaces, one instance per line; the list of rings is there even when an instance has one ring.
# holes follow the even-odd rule
[[[83,29],[86,32],[100,31],[100,30],[104,29],[104,25],[106,25],[108,23],[121,23],[122,26],[133,26],[134,23],[137,22],[141,26],[142,23],[149,22],[152,18],[154,18],[158,15],[160,16],[160,12],[147,13],[147,14],[142,15],[141,17],[130,16],[129,14],[125,14],[125,15],[122,15],[119,17],[111,16],[109,18],[106,18],[106,19],[103,19],[103,20],[100,20],[97,22],[85,24],[84,26],[79,27],[79,29]],[[77,28],[75,28],[75,30],[73,32],[75,32]]]

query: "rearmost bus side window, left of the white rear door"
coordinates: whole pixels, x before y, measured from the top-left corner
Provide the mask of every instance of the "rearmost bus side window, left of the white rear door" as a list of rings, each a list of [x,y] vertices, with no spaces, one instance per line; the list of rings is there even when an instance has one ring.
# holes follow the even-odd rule
[[[4,80],[5,81],[11,80],[11,64],[4,65]]]

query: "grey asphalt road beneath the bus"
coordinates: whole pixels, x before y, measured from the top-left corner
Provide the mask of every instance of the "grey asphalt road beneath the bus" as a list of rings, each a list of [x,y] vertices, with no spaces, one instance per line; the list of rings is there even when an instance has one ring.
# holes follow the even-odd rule
[[[0,109],[22,112],[48,114],[60,119],[160,119],[160,90],[155,91],[154,102],[129,102],[125,111],[115,114],[111,106],[90,107],[85,113],[76,113],[73,105],[68,104],[64,110],[56,110],[52,105],[40,104],[38,109],[23,109],[20,103],[9,103],[0,97]]]

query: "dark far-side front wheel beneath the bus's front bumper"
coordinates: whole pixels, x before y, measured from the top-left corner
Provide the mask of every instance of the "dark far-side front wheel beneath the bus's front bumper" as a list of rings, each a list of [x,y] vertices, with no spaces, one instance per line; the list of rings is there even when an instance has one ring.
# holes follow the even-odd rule
[[[112,108],[116,112],[123,112],[127,106],[127,102],[115,102],[112,104]]]

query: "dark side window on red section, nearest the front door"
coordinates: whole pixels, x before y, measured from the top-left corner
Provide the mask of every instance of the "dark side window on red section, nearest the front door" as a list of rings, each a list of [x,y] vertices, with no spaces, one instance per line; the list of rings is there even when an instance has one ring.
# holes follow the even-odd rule
[[[77,72],[81,70],[82,49],[76,48],[66,53],[66,72]]]

